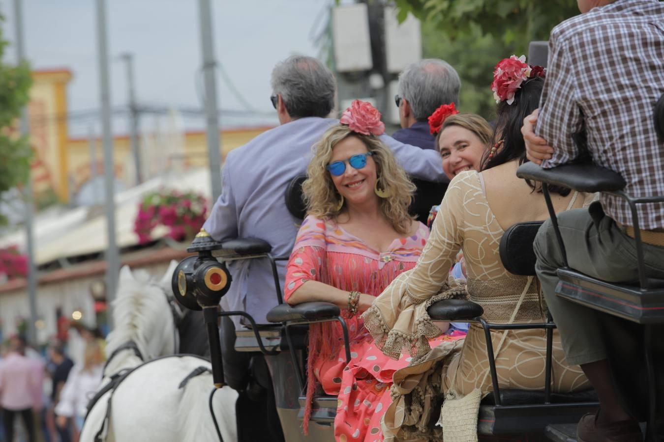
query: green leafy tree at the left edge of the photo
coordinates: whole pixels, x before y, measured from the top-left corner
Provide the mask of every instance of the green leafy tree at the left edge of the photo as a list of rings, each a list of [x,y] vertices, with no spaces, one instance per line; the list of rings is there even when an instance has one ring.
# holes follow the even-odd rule
[[[27,137],[17,137],[17,118],[28,103],[32,85],[30,66],[5,61],[9,44],[3,34],[4,17],[0,15],[0,195],[27,182],[32,150]],[[0,213],[0,224],[6,218]]]

